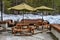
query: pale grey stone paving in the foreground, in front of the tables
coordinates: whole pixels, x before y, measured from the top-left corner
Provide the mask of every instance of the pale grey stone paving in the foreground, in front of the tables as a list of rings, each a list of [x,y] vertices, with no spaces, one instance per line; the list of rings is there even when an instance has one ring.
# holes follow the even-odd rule
[[[0,34],[0,40],[53,40],[46,32],[32,36],[14,36],[11,33],[3,32]]]

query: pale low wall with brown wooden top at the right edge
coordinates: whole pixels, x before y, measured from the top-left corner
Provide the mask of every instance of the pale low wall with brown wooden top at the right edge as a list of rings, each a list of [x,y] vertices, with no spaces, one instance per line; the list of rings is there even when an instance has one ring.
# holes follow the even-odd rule
[[[51,24],[51,33],[60,40],[60,24]]]

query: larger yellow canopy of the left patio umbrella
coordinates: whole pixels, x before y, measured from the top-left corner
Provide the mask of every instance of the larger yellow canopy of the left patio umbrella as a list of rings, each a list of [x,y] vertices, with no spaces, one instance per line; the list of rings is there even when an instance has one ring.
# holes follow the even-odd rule
[[[20,5],[8,8],[8,10],[11,10],[11,9],[14,9],[14,10],[29,10],[29,11],[34,11],[35,10],[33,7],[27,5],[26,3],[22,3]]]

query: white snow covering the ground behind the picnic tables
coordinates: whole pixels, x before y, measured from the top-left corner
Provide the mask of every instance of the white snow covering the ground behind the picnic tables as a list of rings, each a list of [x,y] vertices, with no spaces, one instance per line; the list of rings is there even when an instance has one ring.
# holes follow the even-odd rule
[[[0,18],[1,18],[1,13],[0,13]],[[24,19],[41,19],[41,15],[33,15],[33,14],[24,14]],[[3,20],[7,19],[12,19],[12,20],[20,20],[23,19],[23,15],[7,15],[3,14]],[[60,24],[60,15],[48,15],[48,16],[43,16],[44,20],[49,21],[51,24]]]

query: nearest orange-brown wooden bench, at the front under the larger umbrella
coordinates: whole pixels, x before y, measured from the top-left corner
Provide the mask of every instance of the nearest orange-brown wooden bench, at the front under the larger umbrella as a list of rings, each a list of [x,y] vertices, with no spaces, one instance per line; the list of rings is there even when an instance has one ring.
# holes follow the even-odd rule
[[[27,26],[26,28],[22,28],[23,26]],[[34,29],[31,27],[28,27],[28,25],[17,25],[12,28],[12,33],[16,35],[16,32],[21,33],[21,32],[31,32],[34,34]]]

